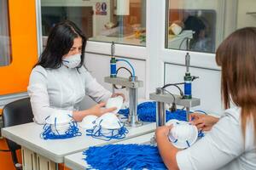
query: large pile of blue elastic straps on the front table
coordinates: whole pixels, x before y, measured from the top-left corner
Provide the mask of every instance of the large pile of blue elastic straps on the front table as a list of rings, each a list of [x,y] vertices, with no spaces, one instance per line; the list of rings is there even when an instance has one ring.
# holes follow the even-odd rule
[[[167,169],[156,146],[148,144],[108,144],[84,150],[90,169]]]

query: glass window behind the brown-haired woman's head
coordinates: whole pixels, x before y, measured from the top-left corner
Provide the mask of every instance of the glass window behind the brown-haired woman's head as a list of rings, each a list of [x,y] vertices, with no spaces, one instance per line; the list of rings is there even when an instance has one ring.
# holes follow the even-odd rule
[[[166,0],[166,48],[215,53],[245,26],[256,26],[253,0]]]

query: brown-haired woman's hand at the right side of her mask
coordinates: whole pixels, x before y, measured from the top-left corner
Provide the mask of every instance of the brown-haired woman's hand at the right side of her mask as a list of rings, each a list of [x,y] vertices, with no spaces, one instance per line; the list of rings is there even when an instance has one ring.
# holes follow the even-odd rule
[[[214,116],[208,116],[201,113],[192,113],[189,115],[189,120],[195,125],[198,130],[209,131],[212,126],[218,122],[218,118]]]

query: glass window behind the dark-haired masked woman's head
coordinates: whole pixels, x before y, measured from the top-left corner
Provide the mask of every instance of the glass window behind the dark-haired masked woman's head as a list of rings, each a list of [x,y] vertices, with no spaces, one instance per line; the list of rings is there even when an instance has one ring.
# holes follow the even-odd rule
[[[90,41],[146,44],[146,0],[41,0],[43,42],[52,26],[72,20]]]

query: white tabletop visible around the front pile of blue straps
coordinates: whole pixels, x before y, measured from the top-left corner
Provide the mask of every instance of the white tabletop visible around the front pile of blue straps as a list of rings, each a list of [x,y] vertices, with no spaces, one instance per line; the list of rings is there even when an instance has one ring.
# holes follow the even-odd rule
[[[136,138],[126,139],[119,141],[114,144],[149,144],[150,139],[154,136],[154,133],[147,133]],[[64,163],[66,167],[76,170],[84,170],[89,167],[86,161],[84,161],[85,156],[83,152],[75,153],[69,156],[65,156]]]

